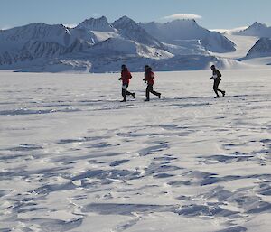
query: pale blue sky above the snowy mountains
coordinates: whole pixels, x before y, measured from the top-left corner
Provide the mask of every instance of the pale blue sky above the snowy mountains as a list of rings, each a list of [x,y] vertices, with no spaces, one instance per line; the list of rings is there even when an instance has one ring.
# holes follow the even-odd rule
[[[136,22],[161,21],[173,14],[195,14],[208,29],[231,29],[254,22],[271,25],[270,0],[0,0],[0,29],[27,23],[78,24],[127,15]]]

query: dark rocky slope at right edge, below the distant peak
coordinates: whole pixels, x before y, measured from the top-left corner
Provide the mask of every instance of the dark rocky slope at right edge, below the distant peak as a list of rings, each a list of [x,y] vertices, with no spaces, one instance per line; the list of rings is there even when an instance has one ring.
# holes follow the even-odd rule
[[[246,59],[268,56],[271,57],[271,38],[261,38],[248,51]]]

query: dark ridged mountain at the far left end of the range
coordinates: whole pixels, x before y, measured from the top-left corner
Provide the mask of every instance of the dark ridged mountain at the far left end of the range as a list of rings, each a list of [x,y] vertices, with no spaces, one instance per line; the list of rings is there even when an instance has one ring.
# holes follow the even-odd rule
[[[63,25],[32,23],[0,32],[0,65],[60,57],[91,44],[73,36]]]

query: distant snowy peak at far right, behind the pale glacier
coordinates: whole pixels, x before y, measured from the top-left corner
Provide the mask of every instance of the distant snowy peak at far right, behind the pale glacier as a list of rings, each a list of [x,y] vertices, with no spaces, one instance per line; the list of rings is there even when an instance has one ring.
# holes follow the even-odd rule
[[[257,37],[268,37],[271,38],[271,27],[268,27],[264,23],[253,23],[247,29],[234,32],[236,35],[243,36],[257,36]]]

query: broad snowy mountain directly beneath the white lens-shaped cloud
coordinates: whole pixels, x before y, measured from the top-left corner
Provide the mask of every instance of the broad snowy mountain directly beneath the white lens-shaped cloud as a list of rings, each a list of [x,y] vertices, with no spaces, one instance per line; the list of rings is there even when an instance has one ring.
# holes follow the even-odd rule
[[[180,45],[182,41],[198,40],[201,45],[214,52],[235,51],[235,44],[219,32],[202,28],[195,20],[174,20],[170,23],[141,23],[146,32],[161,42]]]

